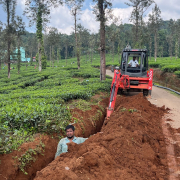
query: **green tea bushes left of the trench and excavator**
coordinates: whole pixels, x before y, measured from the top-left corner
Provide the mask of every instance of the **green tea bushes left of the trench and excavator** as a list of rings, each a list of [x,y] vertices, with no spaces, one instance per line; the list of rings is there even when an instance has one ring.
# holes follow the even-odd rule
[[[34,133],[63,130],[71,119],[67,101],[88,100],[99,91],[110,92],[111,79],[100,82],[100,72],[90,65],[77,70],[75,63],[47,67],[41,73],[33,66],[16,68],[7,78],[0,72],[0,152],[7,153],[31,140]],[[13,65],[12,65],[13,66]]]

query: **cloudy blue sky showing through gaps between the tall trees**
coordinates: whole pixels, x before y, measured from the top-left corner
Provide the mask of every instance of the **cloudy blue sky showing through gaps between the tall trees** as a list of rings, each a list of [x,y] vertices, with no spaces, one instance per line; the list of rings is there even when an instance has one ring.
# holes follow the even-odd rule
[[[155,3],[159,6],[161,10],[161,17],[163,20],[169,19],[180,19],[180,3],[179,0],[154,0]],[[132,7],[129,7],[125,4],[129,2],[128,0],[112,0],[112,10],[113,15],[118,17],[118,19],[124,23],[130,23],[129,18],[132,12]],[[93,14],[93,5],[92,0],[85,0],[81,15],[79,15],[78,23],[84,26],[86,29],[89,29],[91,33],[97,33],[99,30],[99,22],[96,21],[95,15]],[[154,4],[148,8],[146,11],[146,19],[148,14],[152,12]],[[29,32],[35,32],[35,27],[28,27],[29,20],[23,16],[23,10],[25,8],[25,0],[17,0],[16,14],[23,18],[23,21],[26,24],[26,30]],[[71,34],[73,31],[74,20],[70,13],[70,10],[66,5],[59,6],[57,8],[51,9],[51,18],[49,19],[48,27],[55,27],[59,32],[65,34]],[[0,5],[0,21],[3,23],[6,22],[6,14],[3,11],[2,5]]]

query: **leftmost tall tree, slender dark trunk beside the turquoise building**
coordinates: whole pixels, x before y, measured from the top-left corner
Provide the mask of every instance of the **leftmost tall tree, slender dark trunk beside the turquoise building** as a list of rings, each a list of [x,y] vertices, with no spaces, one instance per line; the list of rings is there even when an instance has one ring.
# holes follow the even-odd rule
[[[0,0],[0,4],[3,6],[4,11],[7,15],[7,24],[5,29],[5,39],[7,46],[7,64],[8,64],[8,78],[10,78],[10,55],[11,55],[11,45],[14,39],[15,28],[14,28],[14,18],[15,18],[15,7],[16,0]]]

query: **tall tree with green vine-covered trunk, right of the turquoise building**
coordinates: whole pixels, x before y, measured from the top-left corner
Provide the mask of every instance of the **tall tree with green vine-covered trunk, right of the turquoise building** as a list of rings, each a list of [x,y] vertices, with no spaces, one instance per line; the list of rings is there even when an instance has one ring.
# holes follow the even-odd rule
[[[46,56],[44,52],[43,42],[43,25],[49,21],[50,8],[56,7],[57,3],[61,3],[61,0],[26,0],[26,8],[24,14],[30,19],[30,26],[36,23],[36,35],[38,39],[38,60],[39,60],[39,71],[42,68],[46,68]]]

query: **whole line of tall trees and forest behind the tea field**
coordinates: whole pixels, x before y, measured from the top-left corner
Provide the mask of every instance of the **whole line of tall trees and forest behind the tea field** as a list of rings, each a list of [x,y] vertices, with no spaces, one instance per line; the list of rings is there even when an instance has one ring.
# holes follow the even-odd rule
[[[99,32],[91,33],[79,24],[77,16],[81,13],[84,0],[26,0],[24,15],[29,18],[29,25],[36,25],[36,33],[25,31],[22,18],[15,14],[16,0],[0,0],[7,15],[7,22],[0,22],[0,69],[1,63],[8,64],[10,78],[10,56],[15,48],[17,53],[17,69],[20,72],[20,46],[26,50],[26,56],[36,56],[39,71],[46,68],[47,60],[54,67],[55,60],[77,58],[77,68],[80,69],[81,56],[93,61],[94,54],[100,54],[100,80],[105,80],[106,53],[119,54],[127,44],[133,48],[146,48],[149,56],[180,57],[180,19],[163,21],[161,10],[153,0],[129,0],[126,4],[133,7],[129,24],[122,24],[120,18],[112,13],[112,2],[109,0],[93,0],[94,14],[100,22]],[[73,32],[62,34],[54,27],[46,27],[51,8],[66,4],[74,19]],[[145,21],[145,12],[153,5],[152,12]],[[111,20],[111,24],[107,22]],[[46,27],[46,31],[43,31]]]

